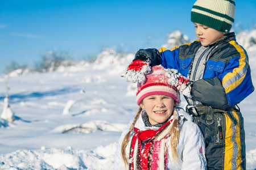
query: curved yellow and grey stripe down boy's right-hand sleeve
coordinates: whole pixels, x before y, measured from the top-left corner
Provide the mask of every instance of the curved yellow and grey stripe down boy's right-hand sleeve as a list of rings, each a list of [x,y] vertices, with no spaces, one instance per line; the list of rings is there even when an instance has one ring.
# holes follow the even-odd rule
[[[229,43],[237,49],[241,57],[239,59],[239,66],[234,68],[232,72],[226,74],[222,79],[222,85],[225,88],[226,93],[234,90],[234,88],[239,86],[239,84],[245,78],[247,67],[249,66],[248,57],[246,57],[246,54],[241,46],[238,45],[236,41],[230,41]]]

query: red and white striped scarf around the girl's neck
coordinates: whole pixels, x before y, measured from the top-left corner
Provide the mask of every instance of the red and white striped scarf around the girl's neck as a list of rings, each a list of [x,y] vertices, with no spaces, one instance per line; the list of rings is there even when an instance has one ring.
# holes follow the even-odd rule
[[[168,121],[158,130],[135,129],[131,140],[129,169],[167,169],[167,137],[171,134]]]

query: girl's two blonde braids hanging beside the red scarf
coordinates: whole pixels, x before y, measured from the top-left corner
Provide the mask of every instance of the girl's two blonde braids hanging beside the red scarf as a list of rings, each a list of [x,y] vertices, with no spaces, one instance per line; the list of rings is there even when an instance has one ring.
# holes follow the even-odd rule
[[[125,135],[125,138],[123,139],[123,142],[122,142],[121,157],[125,165],[129,165],[129,162],[128,162],[129,158],[126,157],[126,146],[127,146],[127,143],[129,142],[130,134],[134,129],[134,125],[138,120],[138,117],[139,117],[139,114],[141,114],[141,111],[142,111],[142,108],[139,107],[139,110],[136,116],[134,117],[133,124],[131,124],[130,126],[130,131]],[[172,112],[172,113],[174,114],[175,112]],[[177,115],[174,115],[174,120],[172,121],[172,125],[171,125],[171,131],[172,131],[172,134],[170,137],[171,137],[172,158],[174,159],[175,163],[177,163],[177,160],[178,160],[177,145],[179,143],[179,137],[180,137],[180,129],[179,129],[179,122],[178,122]]]

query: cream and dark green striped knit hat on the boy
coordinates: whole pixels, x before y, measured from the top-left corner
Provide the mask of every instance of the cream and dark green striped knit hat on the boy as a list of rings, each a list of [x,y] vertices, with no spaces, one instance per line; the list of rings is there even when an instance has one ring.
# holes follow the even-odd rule
[[[234,24],[235,12],[234,0],[197,0],[191,10],[191,21],[227,34]]]

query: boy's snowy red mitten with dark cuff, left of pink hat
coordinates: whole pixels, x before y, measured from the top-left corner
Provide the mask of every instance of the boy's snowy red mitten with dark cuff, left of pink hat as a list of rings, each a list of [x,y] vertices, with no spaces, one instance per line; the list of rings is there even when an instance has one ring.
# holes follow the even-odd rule
[[[135,54],[133,62],[121,73],[127,82],[143,82],[145,74],[150,73],[151,67],[159,65],[160,53],[157,49],[140,49]],[[151,66],[151,67],[150,67]]]

